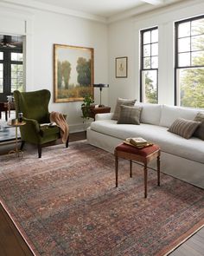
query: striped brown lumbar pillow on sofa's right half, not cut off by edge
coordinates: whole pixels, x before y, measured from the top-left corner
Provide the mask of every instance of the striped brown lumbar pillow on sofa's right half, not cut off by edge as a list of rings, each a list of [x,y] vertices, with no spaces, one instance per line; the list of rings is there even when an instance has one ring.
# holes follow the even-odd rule
[[[189,139],[194,134],[195,129],[200,124],[201,121],[191,121],[183,118],[178,118],[172,123],[168,131],[175,135],[180,135],[185,139]]]

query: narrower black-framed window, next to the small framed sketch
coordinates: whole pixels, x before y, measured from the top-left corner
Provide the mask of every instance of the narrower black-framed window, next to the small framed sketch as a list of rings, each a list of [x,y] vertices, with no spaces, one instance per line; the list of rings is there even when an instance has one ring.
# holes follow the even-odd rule
[[[140,101],[158,102],[158,27],[141,30]]]

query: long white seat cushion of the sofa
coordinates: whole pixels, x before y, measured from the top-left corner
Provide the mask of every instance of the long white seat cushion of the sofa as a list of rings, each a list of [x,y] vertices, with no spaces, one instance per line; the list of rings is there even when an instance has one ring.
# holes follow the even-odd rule
[[[168,128],[140,123],[117,124],[114,120],[92,121],[91,129],[104,135],[109,135],[120,140],[130,137],[143,137],[160,146],[163,152],[175,154],[183,158],[204,163],[204,143],[198,138],[192,137],[189,140],[179,135],[169,133]]]

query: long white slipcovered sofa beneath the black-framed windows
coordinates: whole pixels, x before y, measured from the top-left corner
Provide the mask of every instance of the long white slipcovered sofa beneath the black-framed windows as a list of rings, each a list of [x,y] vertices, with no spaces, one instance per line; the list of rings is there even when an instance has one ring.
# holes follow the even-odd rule
[[[161,170],[182,181],[204,188],[204,141],[191,137],[184,139],[168,131],[176,118],[193,120],[203,109],[178,108],[159,104],[142,106],[141,124],[117,124],[112,113],[96,115],[96,121],[87,128],[87,141],[111,153],[118,143],[128,137],[143,137],[161,147]]]

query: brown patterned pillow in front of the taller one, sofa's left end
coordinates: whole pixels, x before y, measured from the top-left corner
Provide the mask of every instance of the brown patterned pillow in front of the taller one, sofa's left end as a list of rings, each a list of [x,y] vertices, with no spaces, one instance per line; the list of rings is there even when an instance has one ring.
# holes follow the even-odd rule
[[[141,110],[141,107],[121,105],[117,123],[140,124]]]

